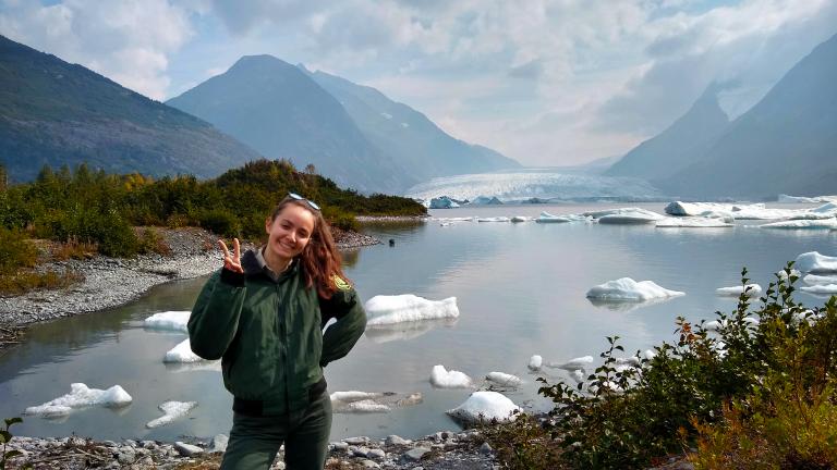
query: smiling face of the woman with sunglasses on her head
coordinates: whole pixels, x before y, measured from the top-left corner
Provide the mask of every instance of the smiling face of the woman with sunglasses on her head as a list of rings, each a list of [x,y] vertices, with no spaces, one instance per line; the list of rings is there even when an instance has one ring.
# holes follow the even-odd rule
[[[281,212],[265,223],[267,249],[279,259],[301,253],[314,233],[314,214],[296,205],[288,205]]]

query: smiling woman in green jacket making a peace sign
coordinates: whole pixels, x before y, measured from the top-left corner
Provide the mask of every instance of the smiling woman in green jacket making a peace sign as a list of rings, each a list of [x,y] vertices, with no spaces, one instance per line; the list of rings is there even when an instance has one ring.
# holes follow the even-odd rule
[[[289,470],[322,469],[331,429],[323,367],[349,352],[366,314],[316,203],[291,193],[265,231],[267,244],[243,256],[238,238],[232,253],[218,240],[223,268],[192,309],[192,350],[222,358],[234,397],[222,470],[268,469],[282,444]]]

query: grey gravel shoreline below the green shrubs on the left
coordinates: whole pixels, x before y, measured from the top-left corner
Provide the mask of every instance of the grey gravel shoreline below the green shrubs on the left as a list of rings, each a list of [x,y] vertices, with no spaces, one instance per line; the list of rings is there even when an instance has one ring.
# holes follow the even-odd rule
[[[140,255],[136,258],[96,256],[87,260],[52,261],[39,267],[58,272],[73,271],[84,280],[61,289],[36,289],[0,297],[0,327],[19,331],[26,325],[106,310],[125,305],[151,287],[171,281],[199,277],[221,267],[217,236],[202,228],[155,227],[171,255]],[[368,235],[342,232],[337,247],[356,249],[380,244]],[[243,249],[254,245],[244,243]],[[16,343],[0,338],[0,350]]]

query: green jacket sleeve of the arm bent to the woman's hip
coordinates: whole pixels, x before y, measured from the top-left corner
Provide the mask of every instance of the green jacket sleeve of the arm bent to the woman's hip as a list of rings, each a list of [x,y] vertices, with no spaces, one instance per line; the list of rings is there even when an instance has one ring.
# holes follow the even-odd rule
[[[324,325],[332,318],[337,320],[323,335],[319,364],[326,367],[349,354],[357,343],[366,329],[366,312],[357,293],[348,286],[336,292],[330,299],[320,298],[319,308]]]

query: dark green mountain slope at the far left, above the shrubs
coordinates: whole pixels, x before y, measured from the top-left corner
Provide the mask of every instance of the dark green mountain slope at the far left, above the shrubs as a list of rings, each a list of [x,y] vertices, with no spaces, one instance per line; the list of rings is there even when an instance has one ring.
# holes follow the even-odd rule
[[[0,162],[13,181],[86,161],[109,173],[216,176],[259,158],[209,123],[0,36]]]

